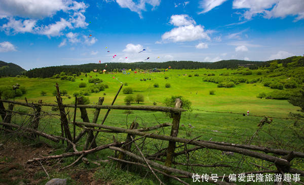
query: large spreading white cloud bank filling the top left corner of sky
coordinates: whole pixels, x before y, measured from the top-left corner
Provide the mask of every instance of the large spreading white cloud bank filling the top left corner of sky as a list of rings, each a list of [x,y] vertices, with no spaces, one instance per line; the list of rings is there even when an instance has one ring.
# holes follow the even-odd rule
[[[65,28],[86,28],[85,10],[88,6],[83,2],[72,0],[2,0],[0,1],[0,17],[8,20],[1,29],[7,34],[34,33],[50,36],[62,35]],[[37,20],[54,16],[63,11],[67,18],[49,25],[37,25]],[[18,17],[16,20],[14,17]]]

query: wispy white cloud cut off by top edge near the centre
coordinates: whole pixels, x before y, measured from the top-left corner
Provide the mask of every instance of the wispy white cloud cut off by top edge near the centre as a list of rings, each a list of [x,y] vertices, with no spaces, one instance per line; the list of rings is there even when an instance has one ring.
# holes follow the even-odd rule
[[[145,11],[145,4],[153,6],[153,8],[160,5],[161,0],[141,0],[139,3],[134,3],[132,0],[116,0],[121,8],[128,8],[132,12],[138,13],[142,19],[141,11]]]

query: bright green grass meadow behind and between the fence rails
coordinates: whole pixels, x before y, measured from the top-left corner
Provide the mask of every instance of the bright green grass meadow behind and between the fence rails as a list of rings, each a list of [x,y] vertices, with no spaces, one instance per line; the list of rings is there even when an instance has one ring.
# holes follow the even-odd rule
[[[126,87],[133,89],[133,95],[142,94],[144,96],[144,102],[140,105],[153,105],[154,102],[158,106],[164,106],[163,102],[165,98],[171,96],[182,96],[183,98],[192,102],[192,112],[185,112],[181,116],[179,137],[194,138],[201,136],[201,140],[212,140],[212,141],[224,141],[232,143],[247,144],[250,137],[256,131],[257,124],[262,119],[262,116],[276,117],[273,119],[271,124],[265,124],[259,134],[254,138],[254,145],[263,145],[275,148],[281,148],[286,150],[299,150],[302,151],[302,143],[298,140],[294,134],[293,120],[286,120],[284,118],[289,117],[289,113],[296,113],[298,107],[295,107],[288,103],[287,100],[269,100],[259,99],[256,96],[260,92],[268,93],[272,91],[270,87],[263,86],[262,83],[240,83],[233,88],[218,88],[216,83],[204,82],[202,78],[204,74],[214,73],[218,76],[221,73],[235,72],[236,70],[218,69],[198,69],[198,70],[169,70],[168,72],[159,73],[131,73],[131,74],[99,74],[99,73],[88,73],[88,77],[84,74],[77,77],[74,82],[60,79],[51,78],[26,78],[26,77],[4,77],[0,78],[0,84],[2,85],[14,85],[19,83],[21,86],[25,86],[27,92],[22,97],[17,97],[16,101],[24,101],[24,97],[29,102],[37,102],[43,100],[44,103],[54,103],[56,98],[52,95],[55,89],[55,83],[58,82],[60,89],[66,89],[68,95],[72,97],[74,92],[80,91],[79,84],[86,82],[87,85],[89,76],[93,78],[98,77],[103,80],[103,83],[107,84],[109,88],[98,93],[92,93],[89,96],[90,104],[96,103],[98,97],[104,97],[103,105],[110,105],[113,98],[115,97],[120,85],[122,83],[128,83]],[[262,71],[265,74],[265,71]],[[195,74],[199,76],[195,76]],[[186,75],[184,75],[186,74]],[[192,77],[189,77],[192,74]],[[261,77],[263,75],[234,75],[236,77],[246,78],[248,80]],[[115,78],[113,78],[115,77]],[[169,77],[165,79],[165,77]],[[148,78],[151,80],[140,81],[142,78]],[[83,80],[81,80],[83,79]],[[158,83],[159,87],[155,88],[154,84]],[[166,88],[165,84],[170,83],[171,87]],[[47,91],[46,96],[41,96],[41,91]],[[215,95],[209,95],[209,91],[214,90]],[[104,95],[106,94],[106,95]],[[115,105],[125,105],[124,98],[127,95],[120,93]],[[72,98],[63,97],[64,104],[71,104]],[[136,105],[134,102],[132,105]],[[16,109],[23,109],[16,106]],[[250,111],[250,116],[243,116],[243,113]],[[49,111],[49,110],[48,110]],[[206,111],[216,111],[225,113],[215,113]],[[89,110],[89,118],[93,119],[93,110]],[[103,115],[106,110],[102,110],[98,122],[101,122]],[[133,111],[132,114],[125,114],[123,110],[112,110],[104,123],[105,125],[115,125],[126,128],[126,125],[130,125],[131,122],[136,119],[140,127],[152,126],[158,123],[171,122],[172,120],[164,113],[160,112],[148,112],[148,111]],[[241,113],[241,114],[231,114]],[[80,115],[80,113],[77,113]],[[252,116],[257,115],[257,116]],[[258,117],[260,116],[260,117]],[[282,119],[278,119],[282,118]],[[13,121],[18,121],[19,117],[13,118]],[[80,117],[77,120],[81,120]],[[40,125],[41,129],[44,129],[48,133],[60,135],[60,124],[58,118],[46,118],[43,119],[43,124]],[[181,125],[184,126],[181,126]],[[188,124],[194,126],[189,128]],[[290,128],[290,129],[289,129]],[[79,131],[80,129],[78,129]],[[164,129],[166,135],[170,134],[170,127]],[[163,130],[161,130],[163,131]],[[125,134],[116,134],[119,141],[125,140]],[[100,134],[98,143],[111,143],[112,134]],[[146,140],[146,143],[151,141],[150,144],[145,146],[145,152],[153,154],[156,151],[155,145],[161,147],[160,142],[154,140]],[[167,146],[167,142],[163,145]],[[60,148],[58,145],[57,147]],[[80,147],[81,149],[81,147]],[[183,149],[178,149],[183,150]],[[62,151],[58,151],[60,153]],[[94,158],[106,159],[106,156],[112,155],[112,151],[102,151],[97,156],[90,156]],[[193,163],[212,164],[219,161],[239,161],[242,158],[241,155],[235,154],[234,156],[222,155],[221,152],[213,150],[201,150],[194,152],[191,161]],[[185,162],[185,158],[178,157],[176,161]],[[65,160],[64,165],[68,165],[73,159]],[[243,164],[242,169],[238,168],[194,168],[198,172],[204,173],[218,173],[220,175],[227,173],[238,173],[244,171],[257,170],[256,167],[250,165],[250,162],[261,166],[268,166],[269,163],[246,158],[246,162]],[[304,169],[304,161],[295,159],[292,161],[293,167],[300,170]],[[81,168],[88,168],[88,166],[81,165]],[[145,180],[135,180],[139,178],[133,173],[134,178],[129,177],[128,172],[112,170],[107,172],[107,169],[111,167],[108,164],[102,166],[98,171],[95,172],[94,177],[101,179],[110,179],[114,184],[157,184],[157,180],[153,176],[150,176]],[[273,169],[273,167],[269,167]],[[143,173],[143,172],[142,172]],[[140,173],[141,174],[141,173]],[[143,173],[144,175],[145,173]],[[55,175],[55,174],[54,174]],[[126,178],[126,179],[124,179]],[[42,181],[41,184],[43,184]],[[71,181],[72,182],[72,181]],[[188,181],[190,182],[190,181]],[[176,182],[172,182],[176,183]],[[176,183],[177,184],[177,183]]]

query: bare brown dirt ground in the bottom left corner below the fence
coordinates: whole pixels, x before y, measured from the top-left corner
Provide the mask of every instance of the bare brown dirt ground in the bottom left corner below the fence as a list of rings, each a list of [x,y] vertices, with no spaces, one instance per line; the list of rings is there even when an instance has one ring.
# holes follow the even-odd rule
[[[42,181],[48,179],[42,165],[48,173],[60,169],[60,159],[46,161],[42,165],[40,163],[26,164],[29,159],[52,155],[53,149],[46,144],[38,143],[26,146],[17,142],[7,141],[4,143],[0,141],[0,144],[3,144],[0,147],[0,185],[18,184],[20,181],[25,182],[25,184],[41,184],[43,183]],[[95,170],[69,168],[63,172],[76,181],[76,184],[111,184],[110,182],[95,180],[93,178]],[[53,176],[53,178],[58,177]]]

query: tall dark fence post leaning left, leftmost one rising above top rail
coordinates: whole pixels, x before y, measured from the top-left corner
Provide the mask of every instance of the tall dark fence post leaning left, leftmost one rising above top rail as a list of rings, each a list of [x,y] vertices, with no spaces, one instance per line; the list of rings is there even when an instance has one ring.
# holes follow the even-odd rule
[[[64,133],[65,133],[66,138],[68,138],[68,140],[70,140],[70,141],[73,141],[71,132],[70,132],[69,127],[68,127],[68,121],[67,121],[67,118],[66,118],[64,106],[62,104],[62,99],[60,97],[60,90],[59,90],[58,83],[56,83],[56,90],[57,90],[56,99],[57,99],[57,104],[58,104],[58,108],[59,108],[59,111],[60,111],[61,128],[64,129]],[[66,142],[66,143],[68,145],[68,142]]]

